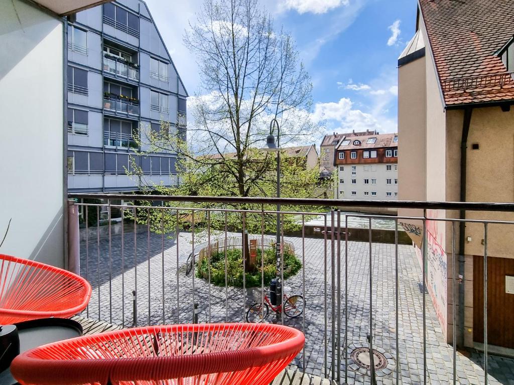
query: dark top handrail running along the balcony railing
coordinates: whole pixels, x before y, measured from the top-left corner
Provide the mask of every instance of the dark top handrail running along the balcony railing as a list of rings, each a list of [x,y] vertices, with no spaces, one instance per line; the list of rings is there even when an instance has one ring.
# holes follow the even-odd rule
[[[514,203],[494,202],[434,202],[434,201],[369,201],[319,198],[262,198],[262,197],[189,197],[168,195],[127,195],[127,194],[69,194],[70,198],[79,199],[120,199],[137,201],[165,202],[202,202],[226,204],[281,204],[325,207],[375,207],[375,208],[413,208],[441,210],[478,210],[478,211],[514,211]]]

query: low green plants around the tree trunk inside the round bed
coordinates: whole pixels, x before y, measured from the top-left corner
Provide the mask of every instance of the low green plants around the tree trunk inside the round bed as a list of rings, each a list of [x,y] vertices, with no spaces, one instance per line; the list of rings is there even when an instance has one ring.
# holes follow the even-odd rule
[[[246,287],[261,286],[261,249],[257,249],[257,262],[253,271],[246,273]],[[275,249],[267,248],[264,252],[264,285],[276,277],[277,268]],[[198,278],[209,278],[209,263],[207,258],[199,262],[196,270]],[[284,251],[284,279],[295,276],[302,268],[302,262],[288,251]],[[243,253],[241,249],[227,251],[228,285],[243,286]],[[211,283],[225,286],[225,252],[215,252],[211,256]]]

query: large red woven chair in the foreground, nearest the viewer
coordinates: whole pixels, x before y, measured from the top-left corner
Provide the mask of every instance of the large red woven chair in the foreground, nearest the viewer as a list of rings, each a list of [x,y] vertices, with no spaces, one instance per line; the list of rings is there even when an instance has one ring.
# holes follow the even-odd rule
[[[274,324],[148,326],[43,345],[17,356],[11,373],[22,385],[265,385],[304,343]]]

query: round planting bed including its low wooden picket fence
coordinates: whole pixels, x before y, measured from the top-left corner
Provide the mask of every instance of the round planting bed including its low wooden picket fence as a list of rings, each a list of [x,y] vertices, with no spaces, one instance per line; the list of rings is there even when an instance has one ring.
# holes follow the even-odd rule
[[[261,286],[262,279],[262,241],[255,240],[257,247],[254,249],[255,263],[245,273],[246,287]],[[225,252],[225,240],[216,241],[201,249],[198,258],[196,276],[209,279],[209,267],[211,283],[225,286],[225,277],[229,286],[243,286],[243,252],[241,238],[232,238],[227,241]],[[209,259],[210,249],[210,259]],[[252,253],[252,252],[250,252]],[[277,261],[275,256],[275,244],[270,239],[264,242],[264,284],[277,275]],[[226,271],[225,271],[226,267]],[[295,276],[302,268],[302,262],[295,255],[295,248],[290,242],[284,242],[284,279]]]

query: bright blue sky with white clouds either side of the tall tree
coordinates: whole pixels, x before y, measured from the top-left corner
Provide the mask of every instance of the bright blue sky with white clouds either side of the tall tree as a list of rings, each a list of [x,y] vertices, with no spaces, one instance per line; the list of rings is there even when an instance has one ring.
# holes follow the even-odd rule
[[[203,0],[146,0],[190,95],[194,56],[182,44]],[[296,40],[327,132],[397,130],[397,58],[415,32],[416,0],[261,0]]]

